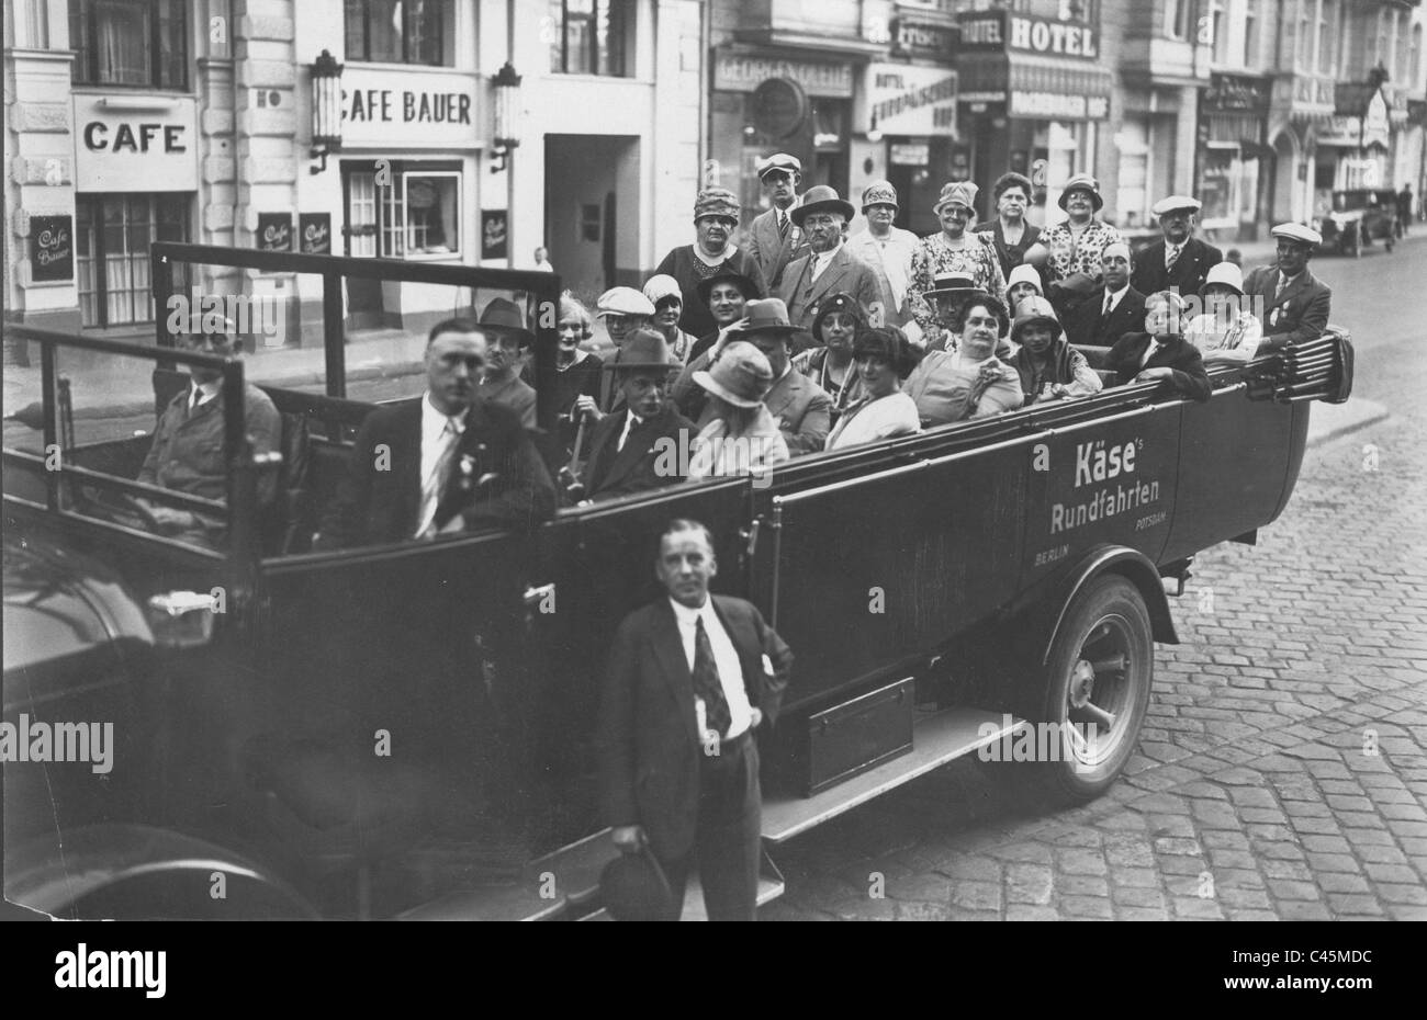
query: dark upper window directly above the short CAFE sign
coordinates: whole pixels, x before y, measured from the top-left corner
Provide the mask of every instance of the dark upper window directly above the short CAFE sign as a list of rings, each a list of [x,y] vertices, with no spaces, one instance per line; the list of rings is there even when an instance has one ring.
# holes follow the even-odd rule
[[[188,87],[184,0],[76,0],[73,80],[84,86]]]

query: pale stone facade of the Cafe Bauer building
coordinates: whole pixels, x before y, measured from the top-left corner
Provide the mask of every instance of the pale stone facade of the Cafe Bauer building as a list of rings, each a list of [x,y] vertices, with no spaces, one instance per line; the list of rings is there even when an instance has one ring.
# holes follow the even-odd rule
[[[4,19],[11,318],[153,335],[156,240],[518,267],[545,247],[586,297],[686,241],[669,214],[704,160],[699,0],[23,0]],[[317,66],[340,77],[314,140]]]

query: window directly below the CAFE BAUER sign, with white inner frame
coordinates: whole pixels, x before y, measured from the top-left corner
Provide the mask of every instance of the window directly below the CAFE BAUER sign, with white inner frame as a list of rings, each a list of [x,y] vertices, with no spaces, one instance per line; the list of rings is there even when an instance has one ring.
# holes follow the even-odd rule
[[[392,163],[390,184],[371,163],[342,163],[347,254],[358,258],[458,258],[459,164]]]

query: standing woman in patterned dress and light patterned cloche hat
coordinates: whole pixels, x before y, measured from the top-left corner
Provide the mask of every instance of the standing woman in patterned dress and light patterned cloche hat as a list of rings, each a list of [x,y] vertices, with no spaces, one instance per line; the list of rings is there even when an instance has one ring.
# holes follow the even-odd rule
[[[972,285],[990,294],[997,301],[1006,300],[1006,278],[1000,272],[996,245],[986,234],[972,234],[968,227],[976,220],[976,185],[970,181],[952,181],[942,188],[933,205],[942,221],[942,233],[923,237],[912,257],[912,282],[908,285],[908,307],[922,331],[922,341],[930,347],[942,338],[942,325],[936,311],[926,301],[929,291],[936,290],[936,277],[946,272],[962,272]]]

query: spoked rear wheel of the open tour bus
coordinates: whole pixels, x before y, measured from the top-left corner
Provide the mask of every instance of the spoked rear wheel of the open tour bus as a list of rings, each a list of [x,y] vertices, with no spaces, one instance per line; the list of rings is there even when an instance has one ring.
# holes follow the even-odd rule
[[[1036,750],[1027,793],[1056,805],[1104,793],[1139,743],[1153,679],[1143,596],[1120,575],[1097,578],[1070,605],[1047,662],[1026,678],[1022,716],[1035,725]]]

